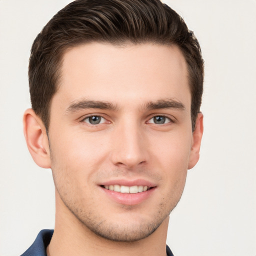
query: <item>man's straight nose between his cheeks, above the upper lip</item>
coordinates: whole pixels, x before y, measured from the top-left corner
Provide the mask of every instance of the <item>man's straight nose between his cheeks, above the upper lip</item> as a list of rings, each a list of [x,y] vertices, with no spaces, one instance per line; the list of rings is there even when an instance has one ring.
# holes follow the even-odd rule
[[[113,132],[111,160],[115,166],[132,169],[148,162],[147,139],[143,128],[126,123]]]

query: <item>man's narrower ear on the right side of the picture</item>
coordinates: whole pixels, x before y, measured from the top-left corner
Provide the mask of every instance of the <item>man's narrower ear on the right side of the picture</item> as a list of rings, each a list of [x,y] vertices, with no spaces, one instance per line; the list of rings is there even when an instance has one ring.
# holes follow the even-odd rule
[[[197,114],[195,121],[195,127],[193,131],[193,139],[191,144],[188,169],[191,169],[199,160],[199,151],[203,132],[203,115],[202,113]]]

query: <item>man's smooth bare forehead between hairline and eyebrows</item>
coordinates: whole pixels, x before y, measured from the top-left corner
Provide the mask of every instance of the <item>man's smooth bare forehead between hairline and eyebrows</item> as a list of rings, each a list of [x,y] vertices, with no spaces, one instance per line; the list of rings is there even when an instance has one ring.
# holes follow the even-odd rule
[[[122,104],[175,98],[190,106],[185,59],[176,46],[88,43],[63,55],[59,89],[54,97]]]

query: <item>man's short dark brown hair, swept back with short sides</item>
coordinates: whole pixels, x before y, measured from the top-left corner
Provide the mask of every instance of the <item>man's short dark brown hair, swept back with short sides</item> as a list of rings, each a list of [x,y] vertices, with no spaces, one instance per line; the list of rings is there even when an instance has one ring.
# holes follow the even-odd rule
[[[177,45],[187,63],[194,129],[203,90],[203,59],[199,43],[184,20],[160,0],[75,0],[49,20],[31,48],[31,105],[46,130],[62,56],[68,48],[88,42]]]

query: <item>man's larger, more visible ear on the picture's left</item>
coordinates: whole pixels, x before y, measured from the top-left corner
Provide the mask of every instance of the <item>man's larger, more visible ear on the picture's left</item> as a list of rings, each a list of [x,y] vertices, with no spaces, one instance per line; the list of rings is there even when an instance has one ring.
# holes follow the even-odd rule
[[[31,108],[24,112],[23,131],[34,162],[40,167],[50,168],[50,150],[46,129],[41,118]]]

